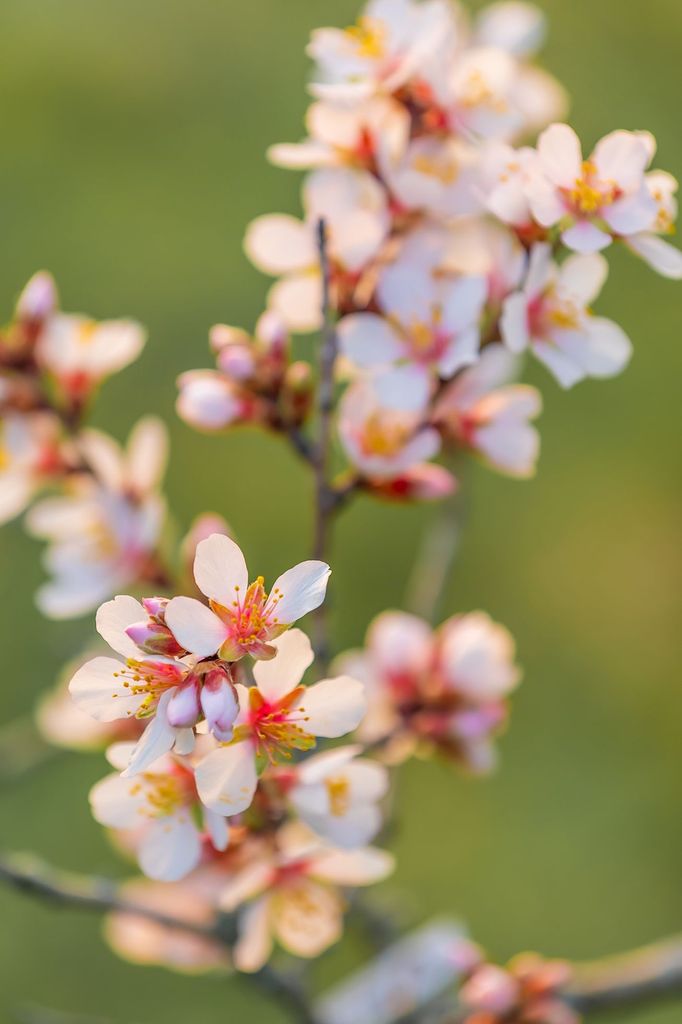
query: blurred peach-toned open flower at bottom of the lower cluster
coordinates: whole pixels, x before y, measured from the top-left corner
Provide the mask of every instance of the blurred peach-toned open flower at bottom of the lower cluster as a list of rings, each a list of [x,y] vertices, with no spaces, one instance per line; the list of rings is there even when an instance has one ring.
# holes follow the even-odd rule
[[[240,971],[260,970],[274,940],[295,956],[318,956],[341,937],[340,889],[374,885],[393,869],[384,850],[335,850],[295,824],[280,829],[278,847],[274,856],[238,873],[220,896],[221,909],[238,912]]]

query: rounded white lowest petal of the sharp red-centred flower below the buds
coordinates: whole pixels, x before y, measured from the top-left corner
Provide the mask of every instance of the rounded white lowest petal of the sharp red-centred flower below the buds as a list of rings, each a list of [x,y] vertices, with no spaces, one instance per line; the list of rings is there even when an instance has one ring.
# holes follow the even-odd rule
[[[249,740],[220,746],[197,765],[197,792],[210,811],[231,817],[251,806],[258,775]]]

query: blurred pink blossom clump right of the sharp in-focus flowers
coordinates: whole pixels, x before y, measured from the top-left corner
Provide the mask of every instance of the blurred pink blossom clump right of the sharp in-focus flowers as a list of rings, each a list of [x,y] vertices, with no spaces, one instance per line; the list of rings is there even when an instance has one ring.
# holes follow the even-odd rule
[[[495,765],[493,740],[517,685],[514,642],[481,611],[454,615],[435,632],[400,611],[378,615],[365,651],[341,655],[337,671],[367,688],[361,739],[387,742],[391,760],[423,745],[474,772]]]

